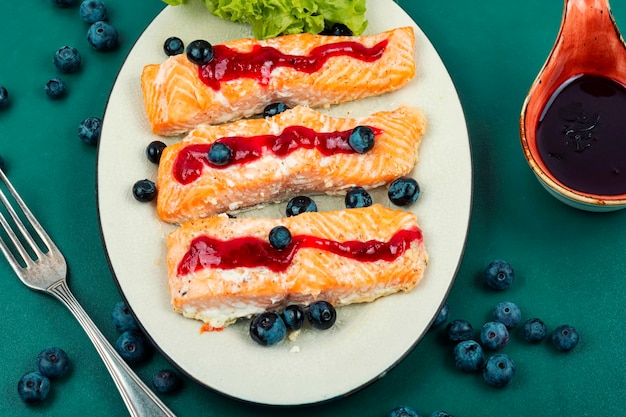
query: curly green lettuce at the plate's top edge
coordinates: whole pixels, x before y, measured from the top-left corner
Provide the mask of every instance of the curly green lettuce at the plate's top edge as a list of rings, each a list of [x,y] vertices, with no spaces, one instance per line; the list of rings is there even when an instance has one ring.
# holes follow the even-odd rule
[[[187,0],[163,0],[178,6]],[[257,39],[294,33],[320,33],[324,25],[346,25],[355,35],[367,27],[365,0],[202,0],[211,13],[247,23]]]

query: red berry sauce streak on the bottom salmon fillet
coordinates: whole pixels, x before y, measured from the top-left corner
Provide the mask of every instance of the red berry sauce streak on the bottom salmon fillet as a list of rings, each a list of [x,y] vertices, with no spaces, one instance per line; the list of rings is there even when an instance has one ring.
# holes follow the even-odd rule
[[[195,238],[178,264],[177,273],[184,276],[205,268],[234,269],[267,267],[274,272],[289,268],[300,249],[328,251],[360,262],[393,261],[422,239],[418,229],[400,230],[388,242],[378,240],[337,242],[316,236],[296,235],[285,249],[275,249],[267,240],[240,237],[219,240],[209,236]]]

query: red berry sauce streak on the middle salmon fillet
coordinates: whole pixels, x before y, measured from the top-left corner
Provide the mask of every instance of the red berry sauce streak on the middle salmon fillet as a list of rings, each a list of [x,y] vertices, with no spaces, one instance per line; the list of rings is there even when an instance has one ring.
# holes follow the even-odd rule
[[[380,129],[371,127],[374,135],[381,133]],[[183,148],[176,156],[173,175],[181,184],[189,184],[202,174],[202,168],[207,165],[212,168],[223,169],[235,164],[245,164],[261,158],[266,152],[278,157],[285,157],[298,149],[317,149],[322,155],[330,156],[337,153],[356,153],[348,143],[351,130],[336,132],[316,132],[303,126],[289,126],[279,135],[232,136],[220,138],[221,142],[232,149],[230,162],[224,165],[214,165],[208,159],[211,144],[189,145]]]

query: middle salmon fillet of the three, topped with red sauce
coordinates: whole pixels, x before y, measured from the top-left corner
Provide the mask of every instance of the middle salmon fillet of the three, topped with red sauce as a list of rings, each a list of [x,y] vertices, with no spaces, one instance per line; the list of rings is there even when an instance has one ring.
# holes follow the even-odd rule
[[[413,169],[426,124],[420,110],[403,105],[362,118],[334,118],[298,106],[271,118],[203,125],[163,151],[157,176],[157,213],[165,222],[182,223],[303,193],[378,187]],[[374,146],[368,152],[354,152],[335,137],[345,138],[357,126],[375,132]],[[298,147],[302,131],[326,135],[337,149]],[[270,143],[251,152],[255,158],[244,158],[242,163],[208,163],[208,150],[214,142],[230,141],[231,147],[245,149],[259,138],[276,139],[287,150],[276,154],[270,149],[276,146]]]

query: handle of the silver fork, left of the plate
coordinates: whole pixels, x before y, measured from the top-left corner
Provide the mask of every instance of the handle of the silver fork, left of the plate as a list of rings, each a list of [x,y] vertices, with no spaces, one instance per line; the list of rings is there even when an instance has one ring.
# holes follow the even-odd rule
[[[167,408],[165,404],[149,389],[130,367],[124,362],[121,356],[115,351],[111,344],[98,330],[94,322],[87,315],[78,300],[70,291],[65,279],[50,286],[47,292],[58,298],[72,312],[74,317],[81,324],[100,357],[104,361],[117,389],[120,391],[124,403],[131,416],[172,416],[175,414]]]

